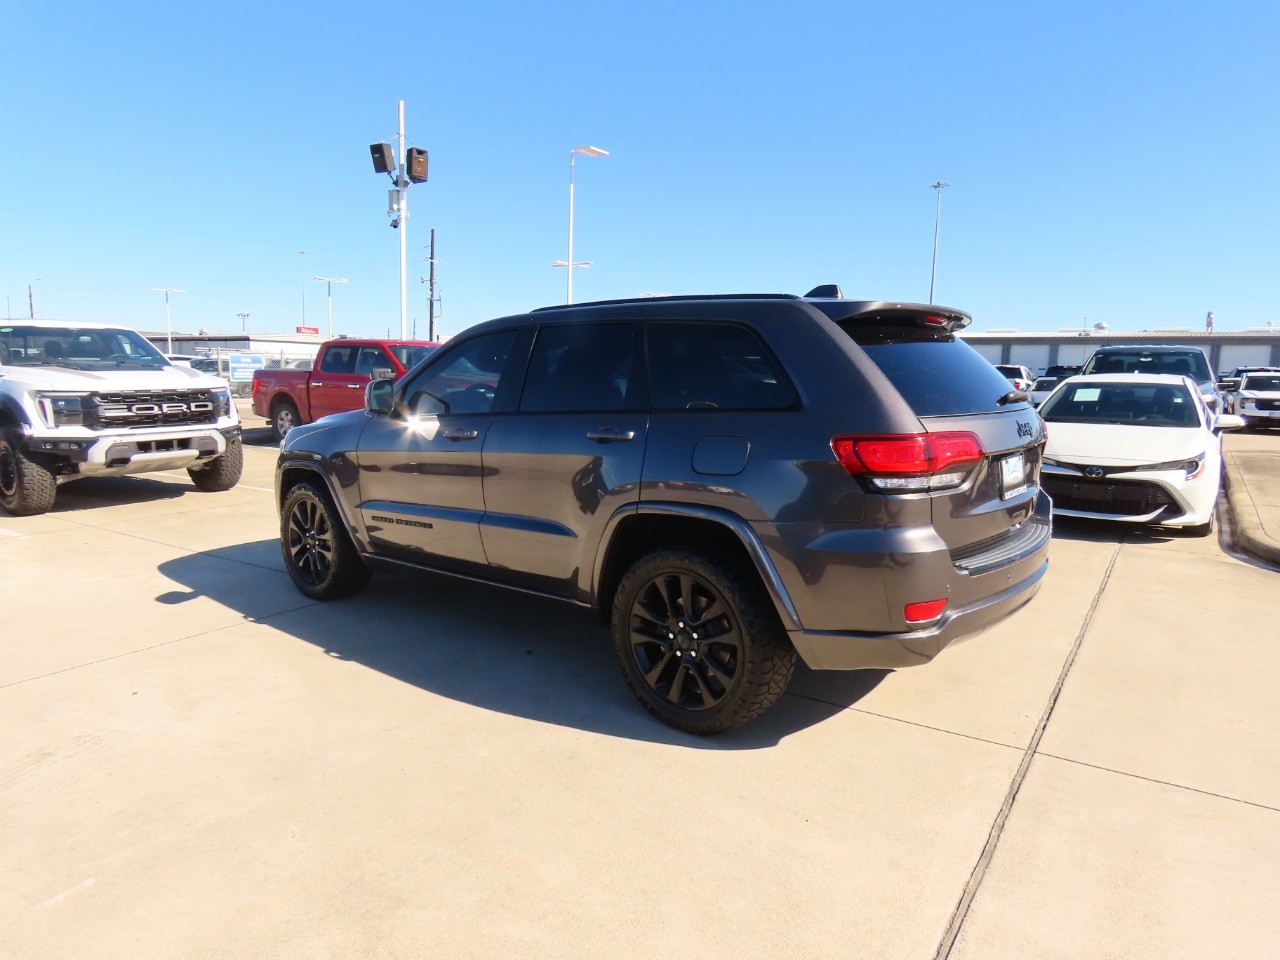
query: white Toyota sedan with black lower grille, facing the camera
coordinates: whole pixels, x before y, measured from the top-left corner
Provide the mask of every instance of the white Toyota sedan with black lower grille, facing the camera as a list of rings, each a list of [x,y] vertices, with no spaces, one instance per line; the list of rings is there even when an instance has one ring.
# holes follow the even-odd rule
[[[1041,484],[1055,513],[1178,526],[1198,536],[1213,530],[1219,431],[1244,421],[1215,416],[1188,378],[1073,376],[1039,413],[1048,429]]]

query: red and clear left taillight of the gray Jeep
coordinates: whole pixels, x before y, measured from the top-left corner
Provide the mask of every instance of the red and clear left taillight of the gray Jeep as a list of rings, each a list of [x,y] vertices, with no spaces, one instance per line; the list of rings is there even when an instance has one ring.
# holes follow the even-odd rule
[[[959,486],[987,452],[972,433],[836,436],[836,460],[881,490],[943,490]]]

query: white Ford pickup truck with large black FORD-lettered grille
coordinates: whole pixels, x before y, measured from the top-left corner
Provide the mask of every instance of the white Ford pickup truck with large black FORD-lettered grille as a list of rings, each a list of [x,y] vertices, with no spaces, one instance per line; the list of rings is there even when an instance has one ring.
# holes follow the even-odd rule
[[[83,476],[186,467],[197,489],[241,476],[227,381],[169,362],[123,326],[0,321],[0,507],[45,513]]]

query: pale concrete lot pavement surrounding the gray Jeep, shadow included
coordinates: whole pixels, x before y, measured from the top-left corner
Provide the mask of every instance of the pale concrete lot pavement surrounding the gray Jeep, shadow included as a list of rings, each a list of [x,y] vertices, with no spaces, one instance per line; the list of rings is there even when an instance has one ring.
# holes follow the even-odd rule
[[[251,436],[225,494],[86,480],[0,518],[0,956],[1280,942],[1277,575],[1213,538],[1060,522],[1004,623],[922,668],[801,671],[701,740],[575,609],[411,576],[297,594]]]

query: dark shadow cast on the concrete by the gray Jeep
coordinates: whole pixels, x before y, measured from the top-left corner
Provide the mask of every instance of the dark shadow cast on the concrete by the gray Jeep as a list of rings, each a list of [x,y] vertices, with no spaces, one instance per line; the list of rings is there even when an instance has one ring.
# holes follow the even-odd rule
[[[279,550],[274,540],[243,544],[243,556]],[[705,750],[756,750],[820,723],[858,703],[886,671],[817,675],[801,664],[792,692],[764,717],[717,737],[672,730],[636,703],[613,657],[608,630],[582,608],[440,575],[379,573],[360,594],[310,602],[287,576],[246,566],[246,577],[274,576],[297,599],[261,617],[250,594],[218,568],[228,552],[188,554],[159,570],[246,620],[305,640],[335,659],[358,663],[458,703],[607,736]],[[179,591],[156,598],[172,604]],[[808,675],[808,676],[804,676]],[[804,681],[804,682],[801,682]]]

